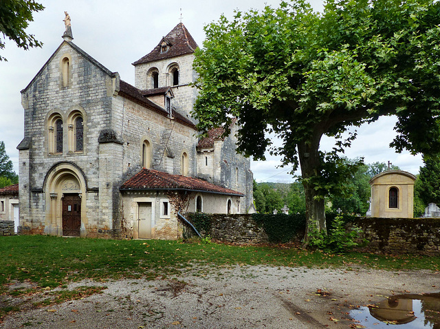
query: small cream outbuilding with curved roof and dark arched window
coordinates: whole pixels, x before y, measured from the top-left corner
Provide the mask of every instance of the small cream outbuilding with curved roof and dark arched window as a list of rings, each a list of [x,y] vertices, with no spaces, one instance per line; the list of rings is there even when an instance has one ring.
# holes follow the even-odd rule
[[[371,178],[371,217],[412,218],[415,180],[412,173],[401,170]]]

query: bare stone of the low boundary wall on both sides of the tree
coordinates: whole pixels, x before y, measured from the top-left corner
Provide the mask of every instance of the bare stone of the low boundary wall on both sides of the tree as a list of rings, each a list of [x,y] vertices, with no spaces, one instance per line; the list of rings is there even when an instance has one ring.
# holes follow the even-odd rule
[[[202,236],[234,243],[259,244],[268,242],[262,226],[252,220],[251,214],[210,214],[211,229]],[[192,213],[186,218],[197,227]],[[361,238],[369,240],[362,252],[391,254],[440,255],[440,218],[366,218],[358,217],[355,224],[364,231]],[[186,228],[184,236],[195,235]],[[302,237],[303,235],[298,235]]]

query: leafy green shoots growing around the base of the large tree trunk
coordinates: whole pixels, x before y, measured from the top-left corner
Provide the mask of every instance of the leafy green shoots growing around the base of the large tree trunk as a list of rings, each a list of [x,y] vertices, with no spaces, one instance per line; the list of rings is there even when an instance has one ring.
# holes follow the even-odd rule
[[[314,226],[309,231],[307,244],[311,248],[333,253],[344,253],[358,246],[358,238],[362,230],[356,226],[346,229],[346,222],[342,217],[337,216],[333,220],[331,229],[328,234],[322,233]]]

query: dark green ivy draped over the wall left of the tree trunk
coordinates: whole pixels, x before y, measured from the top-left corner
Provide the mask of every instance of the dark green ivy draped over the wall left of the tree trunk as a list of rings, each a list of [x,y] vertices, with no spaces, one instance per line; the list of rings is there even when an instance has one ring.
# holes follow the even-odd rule
[[[297,235],[305,232],[305,214],[285,215],[284,213],[252,214],[252,219],[263,226],[270,242],[285,243],[294,240]]]

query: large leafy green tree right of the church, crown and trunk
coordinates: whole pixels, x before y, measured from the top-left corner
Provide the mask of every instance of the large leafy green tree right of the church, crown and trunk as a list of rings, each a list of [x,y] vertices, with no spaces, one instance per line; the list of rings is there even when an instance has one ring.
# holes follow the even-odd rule
[[[307,226],[325,231],[325,196],[357,169],[339,158],[349,127],[394,114],[397,151],[440,150],[439,26],[433,0],[329,0],[322,13],[298,0],[222,16],[196,52],[199,129],[238,118],[239,151],[257,159],[265,133],[278,135],[272,151],[301,169]],[[330,153],[323,135],[337,138]]]

